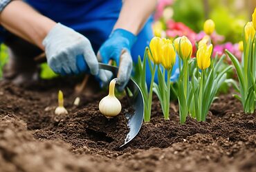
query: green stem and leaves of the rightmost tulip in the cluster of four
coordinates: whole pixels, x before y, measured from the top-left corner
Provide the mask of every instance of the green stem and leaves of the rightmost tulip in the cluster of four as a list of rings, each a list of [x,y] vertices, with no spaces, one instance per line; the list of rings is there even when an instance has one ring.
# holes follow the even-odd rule
[[[212,65],[201,72],[199,72],[199,69],[194,68],[190,82],[190,87],[192,87],[190,114],[198,121],[205,121],[218,89],[226,80],[226,73],[232,69],[231,66],[228,66],[219,71],[223,58],[225,56],[222,56],[219,61],[218,58],[214,58]],[[196,63],[196,60],[192,61],[192,63]]]

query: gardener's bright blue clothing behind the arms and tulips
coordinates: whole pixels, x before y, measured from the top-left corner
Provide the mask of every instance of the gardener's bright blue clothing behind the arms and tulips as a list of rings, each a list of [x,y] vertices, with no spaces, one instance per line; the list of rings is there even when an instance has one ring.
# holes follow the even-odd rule
[[[111,34],[120,10],[121,0],[24,0],[44,16],[73,28],[86,36],[95,53]],[[145,47],[153,37],[152,17],[147,21],[138,39],[131,48],[134,63],[138,62],[138,55],[143,57]],[[3,41],[3,32],[0,29],[0,41]],[[178,62],[178,61],[177,61]],[[178,64],[178,63],[176,63]],[[175,69],[173,70],[173,73]],[[151,74],[147,67],[147,83],[150,83]],[[157,82],[157,78],[155,78]]]

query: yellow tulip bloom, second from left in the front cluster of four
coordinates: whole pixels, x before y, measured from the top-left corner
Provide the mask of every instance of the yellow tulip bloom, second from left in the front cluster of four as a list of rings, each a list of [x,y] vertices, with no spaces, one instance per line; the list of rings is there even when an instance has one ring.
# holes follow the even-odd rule
[[[174,50],[174,45],[170,43],[170,41],[167,41],[163,45],[163,56],[161,59],[161,64],[163,65],[163,67],[165,67],[165,69],[172,69],[172,66],[175,63],[175,60],[176,60],[176,52]]]

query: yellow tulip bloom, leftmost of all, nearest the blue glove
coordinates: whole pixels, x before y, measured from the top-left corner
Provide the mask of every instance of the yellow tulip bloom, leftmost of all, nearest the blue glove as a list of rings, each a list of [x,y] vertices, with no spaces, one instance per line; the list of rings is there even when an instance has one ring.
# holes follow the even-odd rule
[[[159,37],[154,36],[154,38],[149,43],[150,52],[148,52],[149,58],[153,63],[158,65],[161,63],[161,56],[162,54],[162,47],[163,47],[163,40]]]

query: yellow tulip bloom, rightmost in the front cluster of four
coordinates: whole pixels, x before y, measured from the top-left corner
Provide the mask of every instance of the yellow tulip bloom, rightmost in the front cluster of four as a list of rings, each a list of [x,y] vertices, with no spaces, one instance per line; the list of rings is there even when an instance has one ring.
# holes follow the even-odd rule
[[[196,61],[199,69],[207,69],[210,66],[210,56],[212,54],[212,44],[207,46],[206,44],[201,45],[199,50],[196,52]]]

